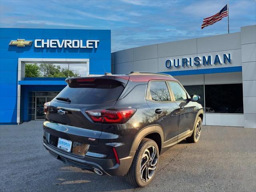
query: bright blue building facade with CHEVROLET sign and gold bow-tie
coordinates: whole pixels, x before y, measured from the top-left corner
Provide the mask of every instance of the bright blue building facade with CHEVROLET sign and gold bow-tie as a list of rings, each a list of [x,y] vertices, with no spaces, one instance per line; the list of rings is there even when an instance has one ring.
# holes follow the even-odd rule
[[[110,30],[0,28],[0,124],[40,119],[42,103],[66,86],[65,78],[25,77],[31,63],[111,72]]]

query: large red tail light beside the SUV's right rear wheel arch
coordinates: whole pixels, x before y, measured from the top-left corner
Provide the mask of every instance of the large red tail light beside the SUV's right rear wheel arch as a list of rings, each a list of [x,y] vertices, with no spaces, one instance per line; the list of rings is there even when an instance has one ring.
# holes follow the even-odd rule
[[[136,112],[134,108],[86,110],[86,114],[94,122],[102,123],[126,123]]]

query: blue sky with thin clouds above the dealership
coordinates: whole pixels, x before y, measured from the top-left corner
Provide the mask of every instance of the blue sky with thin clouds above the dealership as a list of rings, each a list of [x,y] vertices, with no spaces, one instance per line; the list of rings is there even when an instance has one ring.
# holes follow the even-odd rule
[[[112,52],[227,33],[227,17],[201,30],[226,0],[0,0],[0,27],[110,29]],[[230,0],[230,32],[256,24],[256,0]]]

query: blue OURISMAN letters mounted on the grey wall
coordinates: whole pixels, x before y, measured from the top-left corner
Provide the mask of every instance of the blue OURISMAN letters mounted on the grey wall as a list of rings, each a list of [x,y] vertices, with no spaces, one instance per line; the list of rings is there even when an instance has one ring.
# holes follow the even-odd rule
[[[212,60],[212,58],[214,58],[214,60]],[[166,68],[172,68],[172,65],[175,68],[179,68],[180,66],[182,67],[192,67],[192,66],[200,66],[201,64],[206,66],[206,65],[212,65],[213,64],[226,64],[226,63],[231,63],[231,55],[230,53],[228,54],[223,54],[223,57],[221,57],[219,55],[215,55],[214,57],[212,57],[211,55],[207,56],[203,56],[202,60],[200,57],[195,57],[195,58],[182,58],[181,61],[180,59],[173,59],[173,60],[166,60],[165,62],[165,66]]]

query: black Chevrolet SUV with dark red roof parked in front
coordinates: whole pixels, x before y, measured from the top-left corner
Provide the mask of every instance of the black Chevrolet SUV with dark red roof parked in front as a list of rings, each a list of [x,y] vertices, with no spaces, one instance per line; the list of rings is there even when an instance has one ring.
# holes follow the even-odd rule
[[[200,138],[203,108],[197,95],[167,74],[67,78],[44,105],[44,147],[58,160],[102,175],[125,175],[148,185],[159,155]]]

